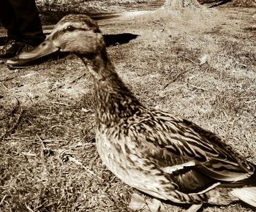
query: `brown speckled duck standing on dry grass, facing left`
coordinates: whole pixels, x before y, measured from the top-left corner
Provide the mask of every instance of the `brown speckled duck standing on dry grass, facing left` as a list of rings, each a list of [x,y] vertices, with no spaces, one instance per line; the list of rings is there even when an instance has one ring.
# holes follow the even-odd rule
[[[94,79],[96,145],[116,177],[140,192],[198,211],[204,203],[256,207],[256,165],[197,124],[140,103],[118,76],[96,21],[67,15],[20,58],[77,55]]]

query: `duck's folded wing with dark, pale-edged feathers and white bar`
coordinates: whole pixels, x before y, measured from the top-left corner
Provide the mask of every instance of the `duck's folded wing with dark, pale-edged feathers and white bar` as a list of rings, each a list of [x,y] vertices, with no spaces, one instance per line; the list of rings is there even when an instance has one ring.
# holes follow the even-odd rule
[[[217,135],[184,119],[155,111],[139,124],[138,140],[144,154],[170,173],[188,173],[188,178],[207,176],[212,182],[233,182],[249,178],[255,166],[239,156]],[[197,175],[197,176],[196,176]],[[199,176],[200,175],[200,176]]]

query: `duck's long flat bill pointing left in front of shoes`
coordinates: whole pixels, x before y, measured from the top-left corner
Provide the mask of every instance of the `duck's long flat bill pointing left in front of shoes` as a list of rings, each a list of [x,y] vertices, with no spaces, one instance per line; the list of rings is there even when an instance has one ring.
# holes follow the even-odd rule
[[[48,56],[51,53],[55,53],[56,51],[59,51],[59,48],[53,44],[53,40],[51,39],[51,37],[47,37],[45,41],[37,47],[32,48],[29,51],[20,53],[20,55],[18,55],[18,59],[30,61],[41,58],[43,56]]]

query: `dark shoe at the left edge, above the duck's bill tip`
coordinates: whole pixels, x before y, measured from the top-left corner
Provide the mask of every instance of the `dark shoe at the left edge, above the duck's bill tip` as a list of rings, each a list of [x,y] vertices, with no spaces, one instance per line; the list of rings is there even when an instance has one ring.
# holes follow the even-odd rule
[[[17,42],[15,39],[10,39],[3,48],[0,49],[0,58],[13,58],[20,53],[25,47],[25,43]]]

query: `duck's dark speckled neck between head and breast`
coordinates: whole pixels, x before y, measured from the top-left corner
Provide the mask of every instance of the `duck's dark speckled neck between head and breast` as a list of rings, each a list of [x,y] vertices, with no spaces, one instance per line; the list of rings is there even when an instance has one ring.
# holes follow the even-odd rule
[[[97,123],[114,126],[123,123],[141,108],[140,102],[118,77],[108,55],[101,50],[89,62],[83,58],[94,77]]]

